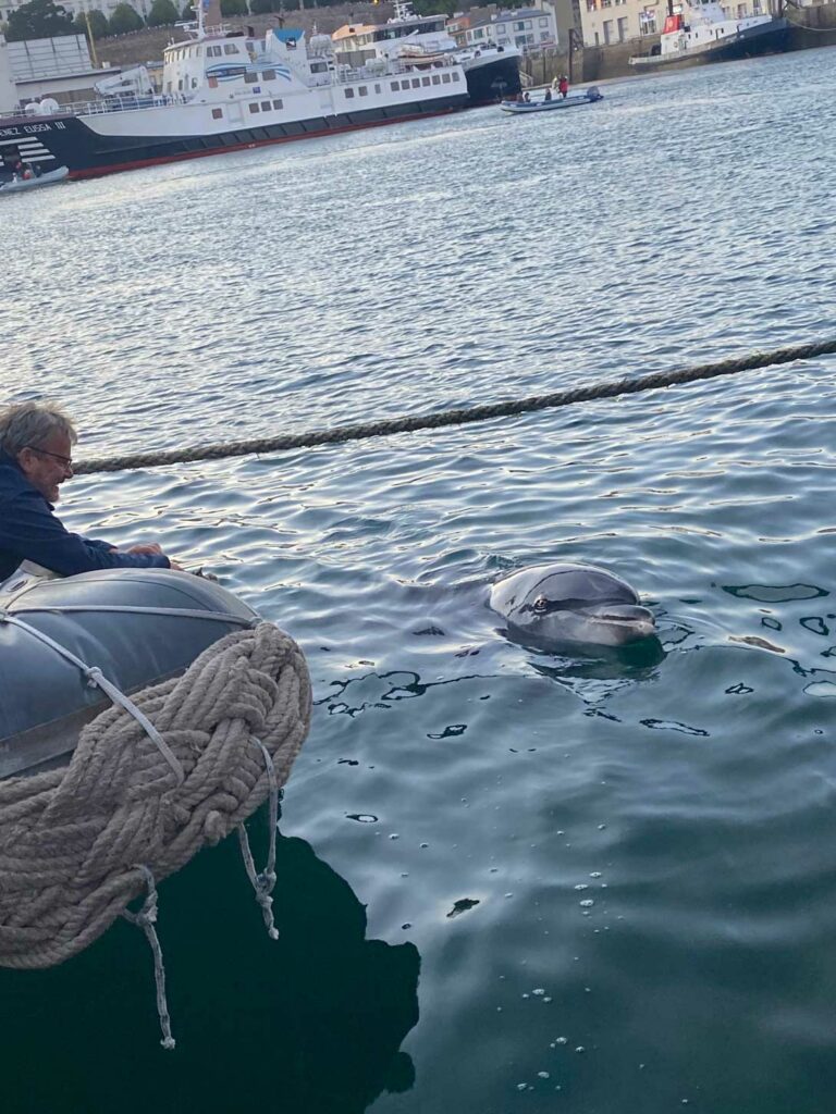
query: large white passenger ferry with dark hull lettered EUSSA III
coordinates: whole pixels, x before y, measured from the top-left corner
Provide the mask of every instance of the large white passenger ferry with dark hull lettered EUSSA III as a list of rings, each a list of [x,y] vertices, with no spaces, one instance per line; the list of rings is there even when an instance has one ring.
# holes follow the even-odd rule
[[[338,66],[328,36],[273,28],[263,40],[186,28],[166,48],[161,95],[118,95],[49,115],[0,118],[0,158],[19,155],[71,178],[333,135],[456,111],[469,104],[453,56],[416,65]]]

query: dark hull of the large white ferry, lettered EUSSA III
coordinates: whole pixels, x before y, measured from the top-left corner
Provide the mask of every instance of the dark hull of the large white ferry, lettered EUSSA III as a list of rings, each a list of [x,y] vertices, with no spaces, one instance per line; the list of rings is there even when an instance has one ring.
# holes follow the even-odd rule
[[[18,117],[0,120],[0,154],[8,157],[19,153],[25,160],[37,162],[43,170],[56,165],[66,166],[71,178],[89,178],[159,163],[439,116],[468,105],[469,98],[463,92],[410,105],[342,113],[297,123],[240,127],[214,135],[178,136],[103,136],[78,116],[52,116],[37,121],[31,117]],[[132,116],[132,111],[124,113],[126,129]]]

